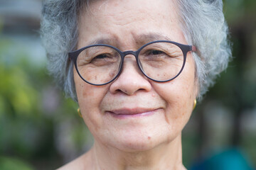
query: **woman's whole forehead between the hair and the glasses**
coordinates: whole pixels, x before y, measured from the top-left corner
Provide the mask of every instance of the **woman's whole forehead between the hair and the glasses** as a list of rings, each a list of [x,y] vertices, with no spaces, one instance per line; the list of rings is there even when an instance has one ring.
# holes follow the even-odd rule
[[[170,0],[91,1],[78,21],[79,38],[88,43],[102,38],[139,41],[154,37],[175,41],[173,35],[179,34],[178,25],[177,7]]]

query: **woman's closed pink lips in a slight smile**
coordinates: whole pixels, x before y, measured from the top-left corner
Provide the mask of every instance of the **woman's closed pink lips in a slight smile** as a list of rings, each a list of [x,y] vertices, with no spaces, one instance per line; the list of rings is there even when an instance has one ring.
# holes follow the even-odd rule
[[[114,118],[137,118],[153,115],[158,108],[122,108],[113,111],[107,111]]]

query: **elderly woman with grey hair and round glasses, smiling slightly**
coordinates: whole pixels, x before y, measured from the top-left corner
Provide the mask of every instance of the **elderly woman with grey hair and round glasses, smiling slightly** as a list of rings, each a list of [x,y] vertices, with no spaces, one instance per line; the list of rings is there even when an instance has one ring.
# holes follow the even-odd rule
[[[49,0],[49,70],[93,147],[60,169],[186,169],[181,131],[227,67],[220,0]]]

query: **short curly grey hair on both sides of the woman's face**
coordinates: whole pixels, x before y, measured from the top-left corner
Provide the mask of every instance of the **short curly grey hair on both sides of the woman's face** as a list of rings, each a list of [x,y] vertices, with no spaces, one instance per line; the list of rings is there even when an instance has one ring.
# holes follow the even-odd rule
[[[41,38],[46,47],[48,70],[65,93],[77,101],[73,64],[68,52],[78,42],[78,16],[90,0],[46,0],[41,18]],[[222,0],[178,0],[181,28],[193,52],[198,78],[198,98],[213,86],[231,57],[228,26]]]

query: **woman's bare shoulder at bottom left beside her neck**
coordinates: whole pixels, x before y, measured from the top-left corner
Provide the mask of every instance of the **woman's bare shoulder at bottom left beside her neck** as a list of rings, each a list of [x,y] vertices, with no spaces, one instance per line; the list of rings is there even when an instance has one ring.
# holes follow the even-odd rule
[[[80,157],[74,159],[72,162],[61,166],[57,170],[80,170],[80,169],[91,169],[92,168],[92,161],[90,151],[82,154]]]

